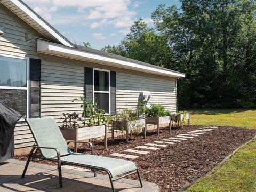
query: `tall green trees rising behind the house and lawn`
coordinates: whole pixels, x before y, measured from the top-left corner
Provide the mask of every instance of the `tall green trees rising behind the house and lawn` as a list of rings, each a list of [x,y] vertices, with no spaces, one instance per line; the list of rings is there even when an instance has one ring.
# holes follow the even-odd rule
[[[182,0],[160,4],[118,46],[103,51],[181,71],[179,108],[256,107],[254,0]]]

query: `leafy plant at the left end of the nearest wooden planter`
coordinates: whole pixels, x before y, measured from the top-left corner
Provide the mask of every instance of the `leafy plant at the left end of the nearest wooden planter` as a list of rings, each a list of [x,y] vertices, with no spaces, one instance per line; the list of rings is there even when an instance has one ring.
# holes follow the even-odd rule
[[[64,117],[61,117],[60,119],[64,119],[62,121],[62,126],[60,126],[60,129],[75,129],[79,127],[78,121],[82,121],[81,118],[79,118],[79,115],[74,112],[74,113],[62,113]]]

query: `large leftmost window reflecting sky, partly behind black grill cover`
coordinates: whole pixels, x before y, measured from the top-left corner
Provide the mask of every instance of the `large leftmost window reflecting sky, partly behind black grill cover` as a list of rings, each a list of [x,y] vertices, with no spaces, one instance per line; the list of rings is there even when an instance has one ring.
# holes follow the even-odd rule
[[[28,59],[0,54],[0,101],[28,115]]]

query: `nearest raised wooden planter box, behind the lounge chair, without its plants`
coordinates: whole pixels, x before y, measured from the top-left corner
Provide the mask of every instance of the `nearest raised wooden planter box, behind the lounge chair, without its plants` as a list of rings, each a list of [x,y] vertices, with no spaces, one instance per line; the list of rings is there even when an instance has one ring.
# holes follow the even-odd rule
[[[92,126],[81,128],[67,128],[60,130],[66,140],[81,141],[85,139],[92,139],[97,137],[104,137],[104,147],[107,148],[107,126]],[[77,152],[77,145],[75,143],[75,151]]]

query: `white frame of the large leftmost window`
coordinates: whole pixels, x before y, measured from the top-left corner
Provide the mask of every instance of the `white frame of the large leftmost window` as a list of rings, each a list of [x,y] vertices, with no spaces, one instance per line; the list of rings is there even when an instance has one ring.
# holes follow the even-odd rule
[[[0,56],[7,58],[16,58],[16,59],[25,59],[27,60],[27,87],[10,87],[10,86],[0,86],[0,89],[13,89],[13,90],[27,90],[27,114],[26,118],[29,118],[29,58],[28,57],[18,57],[14,55],[1,54]],[[19,121],[23,121],[24,119],[20,119]]]

